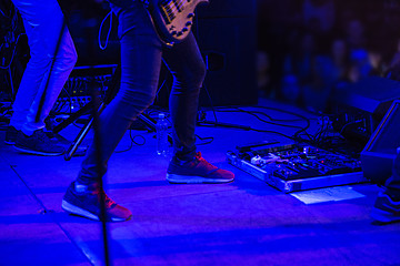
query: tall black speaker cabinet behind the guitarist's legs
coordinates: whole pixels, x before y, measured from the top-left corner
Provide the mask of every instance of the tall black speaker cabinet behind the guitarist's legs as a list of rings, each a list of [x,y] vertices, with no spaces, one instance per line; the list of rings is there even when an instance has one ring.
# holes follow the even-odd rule
[[[211,0],[197,9],[193,34],[207,65],[200,106],[258,103],[256,0]],[[171,79],[161,70],[161,82]],[[168,106],[169,90],[157,104]]]

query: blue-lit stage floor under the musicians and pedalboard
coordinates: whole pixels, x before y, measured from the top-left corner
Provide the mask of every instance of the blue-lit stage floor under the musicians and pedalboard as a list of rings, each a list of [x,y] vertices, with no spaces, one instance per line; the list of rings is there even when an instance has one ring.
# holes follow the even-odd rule
[[[310,132],[318,127],[314,115],[304,111],[261,104],[307,115]],[[212,113],[207,117],[212,120]],[[286,134],[296,131],[244,113],[218,113],[218,119]],[[72,141],[78,132],[70,125],[61,134]],[[61,209],[82,157],[67,162],[63,156],[21,154],[4,145],[0,133],[0,265],[103,265],[101,223]],[[238,144],[283,136],[206,126],[197,133],[214,137],[199,150],[234,172],[233,183],[169,184],[168,158],[156,155],[154,134],[143,131],[132,135],[142,135],[144,145],[111,157],[107,192],[133,213],[129,222],[108,224],[112,265],[400,265],[400,224],[377,226],[369,217],[376,185],[344,186],[358,196],[306,204],[301,195],[277,191],[226,162],[226,152]],[[90,136],[84,144],[89,142]],[[129,145],[126,134],[117,150]]]

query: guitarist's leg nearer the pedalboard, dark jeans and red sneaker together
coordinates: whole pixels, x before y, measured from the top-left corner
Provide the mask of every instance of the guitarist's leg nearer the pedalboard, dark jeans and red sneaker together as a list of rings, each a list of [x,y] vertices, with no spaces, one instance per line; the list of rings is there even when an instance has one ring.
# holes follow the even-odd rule
[[[233,173],[217,168],[196,151],[196,119],[206,65],[191,33],[182,43],[166,50],[163,58],[173,74],[170,95],[174,156],[168,168],[171,183],[227,183]]]

